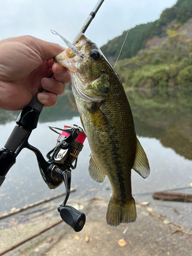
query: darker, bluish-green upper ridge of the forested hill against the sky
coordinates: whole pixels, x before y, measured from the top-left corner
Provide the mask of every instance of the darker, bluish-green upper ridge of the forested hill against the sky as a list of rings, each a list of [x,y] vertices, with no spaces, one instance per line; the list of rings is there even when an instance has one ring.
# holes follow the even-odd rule
[[[177,29],[177,26],[186,23],[191,17],[192,1],[178,0],[173,7],[165,9],[155,22],[141,24],[131,29],[119,59],[135,56],[139,50],[145,48],[148,40],[154,37],[166,37],[168,29]],[[110,61],[113,62],[117,59],[126,33],[127,31],[124,31],[122,35],[109,40],[106,45],[101,47],[101,51]]]

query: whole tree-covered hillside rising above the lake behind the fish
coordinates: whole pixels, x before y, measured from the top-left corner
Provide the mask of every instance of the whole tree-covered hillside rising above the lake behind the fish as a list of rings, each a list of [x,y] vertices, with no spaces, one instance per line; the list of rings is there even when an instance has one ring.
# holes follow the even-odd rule
[[[112,64],[126,32],[101,47]],[[192,86],[192,0],[178,0],[155,22],[131,29],[115,69],[124,87]]]

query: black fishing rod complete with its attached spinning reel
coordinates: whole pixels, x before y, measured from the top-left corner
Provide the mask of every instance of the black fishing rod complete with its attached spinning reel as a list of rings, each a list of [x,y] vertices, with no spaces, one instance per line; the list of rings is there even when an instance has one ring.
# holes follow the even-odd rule
[[[86,22],[81,27],[74,42],[81,33],[84,33],[95,17],[97,11],[104,0],[98,1]],[[58,187],[62,182],[66,187],[66,197],[58,211],[63,221],[69,224],[76,232],[80,231],[86,222],[86,216],[74,207],[66,205],[70,196],[71,188],[71,169],[77,166],[77,158],[83,148],[86,134],[76,124],[65,125],[63,129],[49,125],[49,128],[59,134],[57,144],[48,152],[48,161],[42,156],[41,152],[30,145],[28,139],[38,124],[38,119],[44,105],[41,104],[37,96],[19,114],[16,125],[9,136],[5,146],[0,148],[0,187],[5,181],[9,169],[15,164],[16,157],[23,150],[28,148],[35,153],[40,174],[50,189]]]

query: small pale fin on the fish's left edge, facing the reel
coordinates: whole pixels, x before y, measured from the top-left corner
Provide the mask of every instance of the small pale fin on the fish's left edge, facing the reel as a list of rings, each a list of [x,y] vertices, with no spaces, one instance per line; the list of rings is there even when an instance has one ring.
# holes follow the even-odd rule
[[[97,163],[95,162],[92,154],[89,162],[89,174],[93,180],[102,184],[105,180],[106,175],[103,174],[102,170],[99,168]]]

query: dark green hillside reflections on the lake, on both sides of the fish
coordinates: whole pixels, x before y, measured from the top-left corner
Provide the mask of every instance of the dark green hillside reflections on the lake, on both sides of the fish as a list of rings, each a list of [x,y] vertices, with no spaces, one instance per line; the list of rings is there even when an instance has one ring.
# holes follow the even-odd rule
[[[138,136],[157,138],[165,147],[192,159],[192,88],[129,90],[135,129]],[[15,120],[18,112],[0,110],[0,124]],[[71,91],[57,104],[42,111],[39,122],[53,122],[78,116]]]

